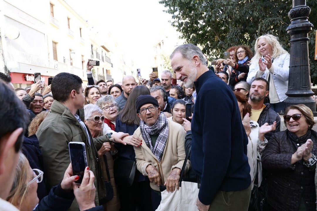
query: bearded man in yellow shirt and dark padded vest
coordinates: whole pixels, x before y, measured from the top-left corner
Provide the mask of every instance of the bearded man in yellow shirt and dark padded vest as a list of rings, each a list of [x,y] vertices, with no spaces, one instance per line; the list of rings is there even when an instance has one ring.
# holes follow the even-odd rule
[[[251,84],[250,88],[250,96],[249,96],[249,104],[251,105],[251,113],[250,119],[259,123],[261,127],[264,123],[268,123],[272,125],[276,121],[276,129],[275,131],[266,133],[264,136],[267,140],[275,132],[280,131],[281,118],[280,116],[271,109],[270,103],[263,104],[264,98],[268,96],[268,88],[269,83],[264,78],[256,78]]]

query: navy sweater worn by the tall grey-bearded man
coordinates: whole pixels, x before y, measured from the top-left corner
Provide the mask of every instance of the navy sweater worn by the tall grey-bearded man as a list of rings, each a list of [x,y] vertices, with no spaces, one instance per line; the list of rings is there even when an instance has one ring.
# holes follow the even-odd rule
[[[251,184],[248,137],[229,86],[212,71],[194,83],[197,99],[191,121],[191,165],[201,177],[198,198],[208,205],[218,191],[244,190]]]

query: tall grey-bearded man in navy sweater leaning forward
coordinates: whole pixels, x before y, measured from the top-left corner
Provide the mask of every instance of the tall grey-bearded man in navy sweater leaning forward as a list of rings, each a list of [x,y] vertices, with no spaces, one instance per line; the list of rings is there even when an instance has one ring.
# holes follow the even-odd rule
[[[197,46],[181,45],[170,59],[177,79],[185,87],[194,83],[197,91],[191,121],[191,165],[201,179],[198,210],[247,211],[251,194],[248,137],[236,97],[209,71]]]

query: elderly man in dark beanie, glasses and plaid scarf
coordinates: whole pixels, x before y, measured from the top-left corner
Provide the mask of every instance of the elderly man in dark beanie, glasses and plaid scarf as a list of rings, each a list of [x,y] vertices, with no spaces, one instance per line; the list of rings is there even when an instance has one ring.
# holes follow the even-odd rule
[[[137,168],[151,182],[152,206],[155,210],[161,202],[160,185],[166,185],[168,192],[178,189],[185,159],[186,133],[180,124],[167,120],[160,111],[158,101],[151,95],[139,96],[136,109],[141,121],[133,137],[138,137],[143,143],[140,147],[134,147]],[[187,161],[185,172],[189,167],[190,162]]]

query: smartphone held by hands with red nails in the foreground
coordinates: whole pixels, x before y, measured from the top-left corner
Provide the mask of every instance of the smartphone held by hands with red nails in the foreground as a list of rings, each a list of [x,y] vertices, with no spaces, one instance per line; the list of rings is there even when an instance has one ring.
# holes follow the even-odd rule
[[[72,163],[73,176],[78,175],[79,180],[75,183],[81,184],[87,165],[86,147],[84,142],[69,142],[70,162]]]

